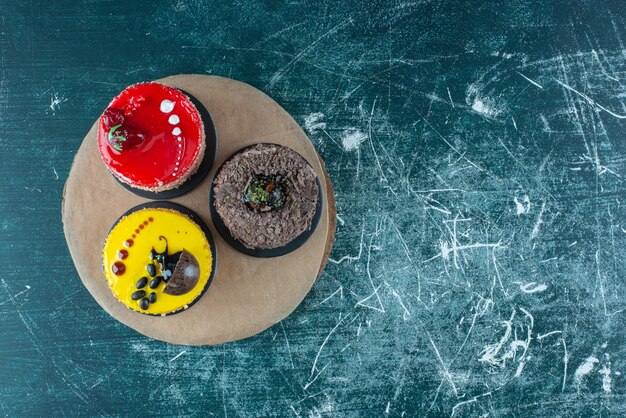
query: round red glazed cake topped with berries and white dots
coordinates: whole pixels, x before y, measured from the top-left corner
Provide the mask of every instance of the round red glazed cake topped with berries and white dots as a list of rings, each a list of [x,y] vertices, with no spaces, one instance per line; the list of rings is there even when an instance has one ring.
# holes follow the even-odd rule
[[[158,83],[126,88],[98,122],[104,164],[131,187],[178,188],[200,166],[205,132],[200,113],[180,90]]]

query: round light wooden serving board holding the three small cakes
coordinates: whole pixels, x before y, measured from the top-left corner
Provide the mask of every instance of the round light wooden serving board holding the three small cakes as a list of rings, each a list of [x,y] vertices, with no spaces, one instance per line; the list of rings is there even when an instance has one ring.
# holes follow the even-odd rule
[[[324,268],[335,236],[335,200],[330,179],[313,144],[293,118],[259,90],[230,79],[176,75],[160,83],[200,100],[213,117],[218,149],[209,175],[191,192],[171,202],[193,210],[209,226],[218,262],[213,283],[187,311],[167,317],[133,312],[115,299],[102,273],[102,245],[115,220],[148,200],[125,190],[102,163],[96,124],[83,140],[65,184],[62,217],[65,238],[83,284],[111,316],[149,337],[173,344],[215,345],[255,335],[281,321],[300,304]],[[237,252],[216,233],[209,192],[216,169],[236,150],[273,142],[300,153],[322,186],[322,216],[311,238],[276,258]]]

